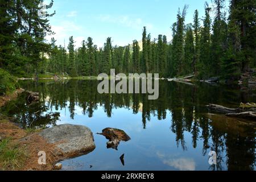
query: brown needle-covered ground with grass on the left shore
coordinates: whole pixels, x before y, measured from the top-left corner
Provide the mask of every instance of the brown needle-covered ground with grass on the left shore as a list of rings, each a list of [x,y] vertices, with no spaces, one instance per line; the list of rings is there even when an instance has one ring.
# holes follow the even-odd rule
[[[23,89],[17,89],[14,93],[0,97],[0,106],[10,100],[14,100]],[[0,113],[0,171],[48,171],[53,170],[54,164],[61,160],[55,154],[54,144],[49,144],[40,137],[40,130],[24,130],[11,122],[13,118],[8,118]],[[38,152],[46,152],[46,165],[38,163]]]

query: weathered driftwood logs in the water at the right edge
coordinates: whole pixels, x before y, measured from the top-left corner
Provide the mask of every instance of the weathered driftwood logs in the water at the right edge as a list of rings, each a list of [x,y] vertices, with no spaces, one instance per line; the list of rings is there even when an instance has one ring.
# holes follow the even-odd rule
[[[241,104],[238,108],[229,108],[220,105],[210,104],[207,106],[209,110],[216,113],[226,114],[228,117],[237,117],[256,120],[256,104]]]

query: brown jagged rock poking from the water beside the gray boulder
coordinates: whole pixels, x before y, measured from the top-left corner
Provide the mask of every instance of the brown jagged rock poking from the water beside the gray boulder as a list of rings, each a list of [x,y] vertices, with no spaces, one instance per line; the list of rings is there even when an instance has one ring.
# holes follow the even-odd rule
[[[131,139],[129,135],[125,133],[125,131],[113,129],[110,127],[102,130],[102,133],[97,134],[103,135],[104,137],[106,137],[106,139],[109,140],[107,142],[107,148],[114,148],[115,150],[117,150],[120,141],[127,142]]]

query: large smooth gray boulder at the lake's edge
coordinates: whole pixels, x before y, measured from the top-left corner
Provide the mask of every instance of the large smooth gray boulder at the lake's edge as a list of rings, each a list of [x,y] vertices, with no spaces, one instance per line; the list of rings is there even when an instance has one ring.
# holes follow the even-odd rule
[[[92,152],[96,147],[92,131],[81,125],[59,125],[39,133],[49,143],[67,156],[79,156]]]

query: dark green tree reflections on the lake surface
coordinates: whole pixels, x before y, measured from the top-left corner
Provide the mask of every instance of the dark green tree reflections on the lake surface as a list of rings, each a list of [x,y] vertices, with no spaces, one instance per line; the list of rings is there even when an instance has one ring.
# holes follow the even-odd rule
[[[203,83],[201,83],[203,84]],[[159,99],[148,100],[147,94],[98,94],[97,81],[69,80],[59,81],[54,84],[48,82],[24,82],[23,87],[27,90],[40,92],[42,102],[33,107],[24,105],[20,101],[15,106],[10,106],[7,110],[20,118],[20,122],[28,125],[30,121],[40,123],[43,113],[46,111],[61,110],[68,108],[70,117],[73,119],[76,114],[75,106],[82,108],[82,113],[88,117],[93,117],[93,111],[98,106],[104,107],[108,117],[112,117],[113,109],[124,107],[132,109],[134,114],[142,114],[142,126],[146,129],[147,122],[151,117],[157,117],[159,120],[166,119],[167,113],[171,115],[171,131],[176,134],[177,146],[187,150],[185,145],[184,132],[192,135],[192,146],[197,147],[198,140],[203,140],[203,155],[208,155],[209,148],[212,147],[217,152],[217,165],[212,166],[212,170],[223,169],[223,158],[225,152],[227,155],[227,166],[229,169],[253,169],[254,158],[254,138],[250,137],[230,137],[227,133],[221,133],[214,126],[210,125],[210,119],[207,115],[205,105],[230,104],[234,105],[243,101],[252,100],[250,96],[242,93],[237,88],[225,89],[220,86],[210,86],[204,84],[201,86],[188,86],[177,84],[175,82],[162,82],[159,85]],[[251,94],[251,93],[250,93]],[[22,98],[20,98],[22,99]],[[44,103],[44,101],[46,101]],[[253,100],[252,100],[253,101]],[[17,102],[15,102],[17,104]],[[35,114],[35,111],[39,111]],[[55,125],[59,115],[53,118],[42,119],[42,122],[48,122]],[[48,119],[48,121],[47,121]],[[245,160],[248,159],[248,160]],[[245,161],[243,161],[245,160]],[[240,168],[234,167],[239,164]]]

